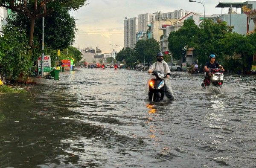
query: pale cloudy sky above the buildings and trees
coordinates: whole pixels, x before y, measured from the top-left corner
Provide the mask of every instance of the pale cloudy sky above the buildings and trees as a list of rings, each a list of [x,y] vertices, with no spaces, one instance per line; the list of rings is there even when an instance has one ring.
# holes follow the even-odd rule
[[[196,0],[204,4],[189,2],[189,0],[87,0],[89,3],[77,11],[70,12],[76,19],[76,34],[74,47],[102,49],[103,53],[111,53],[112,46],[119,51],[123,48],[124,17],[138,17],[138,14],[154,12],[173,12],[187,10],[205,15],[221,14],[221,8],[215,8],[219,2],[245,2],[245,0]],[[223,9],[227,13],[228,8]],[[238,13],[241,11],[238,10]],[[118,46],[116,46],[118,45]]]

